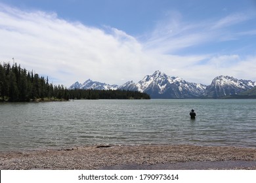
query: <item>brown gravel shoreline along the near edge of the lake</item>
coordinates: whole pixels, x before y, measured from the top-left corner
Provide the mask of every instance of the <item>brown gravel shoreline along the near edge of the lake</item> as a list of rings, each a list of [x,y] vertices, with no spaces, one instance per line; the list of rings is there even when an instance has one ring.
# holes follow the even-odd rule
[[[104,169],[120,165],[137,167],[171,165],[181,162],[237,161],[232,167],[214,166],[205,169],[253,169],[256,148],[194,145],[81,146],[66,150],[1,152],[0,169]],[[240,167],[239,162],[245,162]],[[214,164],[214,163],[213,163]],[[177,164],[179,165],[179,164]],[[193,166],[193,163],[191,164]],[[156,166],[157,167],[157,166]],[[164,166],[163,166],[164,167]],[[165,166],[170,167],[170,166]],[[179,167],[177,167],[179,169]],[[193,169],[193,167],[190,167]],[[146,169],[146,168],[145,168]],[[186,169],[186,168],[185,168]]]

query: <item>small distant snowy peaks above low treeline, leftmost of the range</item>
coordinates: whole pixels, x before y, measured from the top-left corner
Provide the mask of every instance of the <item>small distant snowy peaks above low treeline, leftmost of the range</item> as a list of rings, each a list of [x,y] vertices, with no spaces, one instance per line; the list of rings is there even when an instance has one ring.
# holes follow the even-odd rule
[[[96,82],[93,80],[86,80],[83,84],[79,82],[75,82],[70,86],[70,90],[72,89],[83,89],[83,90],[117,90],[118,86],[116,84],[110,85],[102,82]]]

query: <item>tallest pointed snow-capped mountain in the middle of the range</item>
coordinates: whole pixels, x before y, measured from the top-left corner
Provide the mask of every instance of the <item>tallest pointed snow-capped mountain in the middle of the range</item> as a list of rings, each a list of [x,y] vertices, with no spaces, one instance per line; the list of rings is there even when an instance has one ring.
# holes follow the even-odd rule
[[[156,71],[145,76],[136,84],[139,92],[148,93],[152,98],[194,98],[203,95],[206,86],[186,82],[179,77],[171,77]]]

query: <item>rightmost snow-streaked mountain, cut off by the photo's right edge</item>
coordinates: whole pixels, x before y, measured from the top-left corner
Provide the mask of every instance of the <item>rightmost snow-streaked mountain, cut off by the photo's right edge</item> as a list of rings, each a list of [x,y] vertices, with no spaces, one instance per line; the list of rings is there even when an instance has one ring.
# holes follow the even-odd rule
[[[255,86],[256,82],[251,80],[238,80],[230,76],[217,76],[213,79],[211,85],[205,89],[205,96],[217,98],[226,95],[236,95]]]

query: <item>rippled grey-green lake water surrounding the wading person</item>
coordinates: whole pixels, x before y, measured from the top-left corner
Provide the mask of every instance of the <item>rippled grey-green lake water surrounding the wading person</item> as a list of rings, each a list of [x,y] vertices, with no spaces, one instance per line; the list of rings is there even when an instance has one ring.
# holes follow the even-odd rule
[[[96,144],[256,147],[255,99],[0,103],[0,115],[0,152]]]

